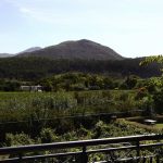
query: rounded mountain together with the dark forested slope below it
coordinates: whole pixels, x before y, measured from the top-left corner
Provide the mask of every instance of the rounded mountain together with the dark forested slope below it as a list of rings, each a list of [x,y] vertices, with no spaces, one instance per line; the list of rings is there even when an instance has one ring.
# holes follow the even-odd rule
[[[13,58],[0,59],[0,78],[36,80],[54,74],[83,72],[116,77],[159,76],[160,66],[139,66],[143,59],[125,59],[109,47],[90,40],[65,41],[40,49],[30,48]]]

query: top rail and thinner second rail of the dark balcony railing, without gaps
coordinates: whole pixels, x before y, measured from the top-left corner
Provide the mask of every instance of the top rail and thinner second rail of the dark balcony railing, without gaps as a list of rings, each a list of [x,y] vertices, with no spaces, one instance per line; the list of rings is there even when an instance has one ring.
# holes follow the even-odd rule
[[[104,139],[90,139],[90,140],[79,140],[79,141],[65,141],[65,142],[54,142],[54,143],[42,143],[42,145],[29,145],[29,146],[20,146],[20,147],[4,147],[0,148],[0,155],[4,154],[25,154],[27,152],[35,152],[35,151],[47,151],[47,150],[54,150],[54,149],[68,149],[68,148],[82,148],[80,151],[77,152],[64,152],[64,153],[51,153],[51,154],[40,154],[40,155],[24,155],[20,158],[11,158],[5,159],[0,162],[17,162],[20,160],[39,160],[39,159],[47,159],[47,158],[58,158],[58,156],[70,156],[70,155],[82,155],[83,153],[86,154],[93,154],[93,153],[108,153],[113,151],[121,151],[121,150],[141,150],[145,148],[151,147],[163,147],[163,142],[155,142],[155,143],[148,143],[141,145],[140,142],[143,140],[163,140],[163,135],[137,135],[137,136],[127,136],[127,137],[116,137],[116,138],[104,138]],[[136,142],[133,145],[124,145],[123,142]],[[104,148],[104,149],[95,149],[95,150],[86,150],[87,147],[91,146],[99,146],[99,145],[114,145],[118,143],[121,147],[116,148]],[[84,150],[85,149],[85,150]]]

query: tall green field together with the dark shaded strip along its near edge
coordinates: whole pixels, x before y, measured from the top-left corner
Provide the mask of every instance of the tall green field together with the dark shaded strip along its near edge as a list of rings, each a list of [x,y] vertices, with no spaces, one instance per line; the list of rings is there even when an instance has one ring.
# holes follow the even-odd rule
[[[80,124],[89,128],[101,117],[85,116],[135,110],[140,106],[135,97],[133,90],[0,92],[0,133],[2,137],[5,133],[21,131],[36,136],[45,127],[53,127],[60,133]]]

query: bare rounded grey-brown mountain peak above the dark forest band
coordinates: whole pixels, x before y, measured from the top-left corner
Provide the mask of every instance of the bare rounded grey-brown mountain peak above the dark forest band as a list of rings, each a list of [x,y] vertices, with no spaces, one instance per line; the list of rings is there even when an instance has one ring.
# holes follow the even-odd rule
[[[64,41],[55,46],[33,52],[21,52],[16,57],[41,57],[49,59],[83,59],[83,60],[123,60],[113,49],[100,43],[82,39]]]

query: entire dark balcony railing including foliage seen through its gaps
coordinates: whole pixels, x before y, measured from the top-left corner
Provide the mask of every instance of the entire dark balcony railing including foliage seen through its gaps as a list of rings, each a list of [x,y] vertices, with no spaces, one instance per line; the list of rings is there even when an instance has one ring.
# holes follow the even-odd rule
[[[3,163],[163,162],[163,135],[138,135],[0,148]]]

